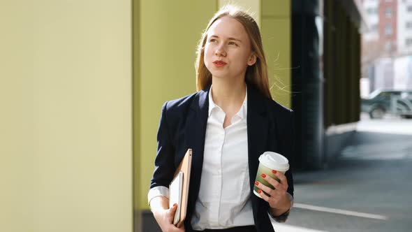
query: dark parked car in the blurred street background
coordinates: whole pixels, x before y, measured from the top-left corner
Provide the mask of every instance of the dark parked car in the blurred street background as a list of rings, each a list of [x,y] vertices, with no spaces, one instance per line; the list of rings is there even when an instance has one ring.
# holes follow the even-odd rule
[[[366,99],[361,99],[361,111],[369,113],[373,119],[383,118],[387,113],[412,118],[412,89],[377,89]]]

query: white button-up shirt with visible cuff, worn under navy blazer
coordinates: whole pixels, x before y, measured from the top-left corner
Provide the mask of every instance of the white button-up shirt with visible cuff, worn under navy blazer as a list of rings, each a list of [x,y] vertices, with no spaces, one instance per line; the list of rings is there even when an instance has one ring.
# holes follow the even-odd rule
[[[247,144],[247,96],[230,126],[226,114],[209,91],[209,115],[205,136],[200,189],[191,226],[197,231],[253,225]],[[149,190],[148,200],[168,197],[167,187]]]

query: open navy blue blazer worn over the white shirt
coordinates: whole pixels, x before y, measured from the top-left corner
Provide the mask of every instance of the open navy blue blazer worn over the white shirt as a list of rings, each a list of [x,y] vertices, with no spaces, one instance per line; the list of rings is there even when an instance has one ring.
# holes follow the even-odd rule
[[[203,150],[209,109],[209,89],[168,101],[163,105],[157,134],[157,155],[150,188],[168,187],[186,150],[193,150],[189,200],[184,226],[191,232],[191,217],[198,198]],[[266,151],[293,160],[293,111],[265,98],[252,85],[247,86],[247,139],[253,219],[259,232],[274,231],[267,215],[269,204],[253,194],[258,158]],[[292,172],[286,172],[288,193],[293,196]]]

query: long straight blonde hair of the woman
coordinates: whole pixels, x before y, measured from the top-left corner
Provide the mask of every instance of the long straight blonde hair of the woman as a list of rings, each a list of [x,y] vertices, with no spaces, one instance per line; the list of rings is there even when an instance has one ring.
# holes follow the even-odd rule
[[[243,25],[251,41],[251,50],[254,55],[256,55],[256,63],[247,67],[245,81],[258,89],[258,91],[268,99],[272,99],[269,80],[267,78],[266,58],[263,52],[262,38],[260,37],[258,24],[249,13],[233,5],[223,6],[223,8],[216,12],[209,21],[209,24],[207,24],[205,31],[203,31],[202,38],[200,38],[195,63],[197,90],[200,91],[212,84],[212,73],[207,70],[204,61],[207,31],[216,20],[224,16],[232,17]]]

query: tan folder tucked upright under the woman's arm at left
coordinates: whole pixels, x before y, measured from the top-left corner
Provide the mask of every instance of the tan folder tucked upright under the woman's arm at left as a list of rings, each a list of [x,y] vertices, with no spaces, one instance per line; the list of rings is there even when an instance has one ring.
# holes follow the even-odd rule
[[[177,222],[177,227],[180,227],[186,218],[186,210],[187,210],[187,200],[189,197],[189,181],[190,181],[190,173],[191,173],[191,164],[192,164],[192,150],[189,148],[186,154],[183,157],[182,162],[180,162],[179,166],[175,171],[174,177],[179,173],[179,171],[183,172],[183,187],[182,187],[182,205],[177,205],[180,207],[180,219]]]

